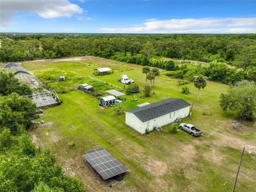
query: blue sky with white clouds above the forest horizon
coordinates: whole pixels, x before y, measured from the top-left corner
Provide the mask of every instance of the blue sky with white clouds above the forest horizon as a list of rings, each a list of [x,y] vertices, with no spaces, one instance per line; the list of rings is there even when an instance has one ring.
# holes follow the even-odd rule
[[[256,33],[256,1],[0,0],[1,32]]]

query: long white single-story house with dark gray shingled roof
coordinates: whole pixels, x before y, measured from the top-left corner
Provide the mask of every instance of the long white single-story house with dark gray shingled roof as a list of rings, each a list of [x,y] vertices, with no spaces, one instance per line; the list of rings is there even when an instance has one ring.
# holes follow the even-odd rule
[[[145,133],[189,115],[190,104],[180,98],[170,98],[150,105],[125,111],[125,123],[134,130]]]

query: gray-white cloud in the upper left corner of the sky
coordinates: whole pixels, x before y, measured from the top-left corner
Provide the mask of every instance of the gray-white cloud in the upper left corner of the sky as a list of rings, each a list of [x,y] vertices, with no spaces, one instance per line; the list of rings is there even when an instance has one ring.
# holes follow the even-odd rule
[[[42,18],[72,17],[82,14],[83,9],[67,0],[1,0],[1,28],[14,24],[17,12],[36,13]]]

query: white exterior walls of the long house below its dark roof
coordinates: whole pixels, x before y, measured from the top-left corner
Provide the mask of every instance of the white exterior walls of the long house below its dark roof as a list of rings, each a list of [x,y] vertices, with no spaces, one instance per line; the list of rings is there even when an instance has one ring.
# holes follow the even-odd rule
[[[155,126],[164,126],[169,123],[172,123],[175,121],[176,118],[184,118],[189,115],[189,106],[179,109],[177,111],[173,111],[171,113],[171,118],[170,118],[170,113],[163,115],[161,117],[157,117],[154,119],[150,119],[147,122],[141,122],[138,117],[136,117],[132,113],[125,113],[125,123],[129,126],[131,126],[134,130],[140,132],[141,134],[145,133],[145,130],[148,128],[149,131],[153,131]],[[175,114],[174,114],[175,112]]]

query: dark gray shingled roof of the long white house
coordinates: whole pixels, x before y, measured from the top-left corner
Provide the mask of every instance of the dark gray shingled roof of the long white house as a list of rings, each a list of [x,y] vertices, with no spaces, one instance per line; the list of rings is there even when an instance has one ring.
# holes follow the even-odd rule
[[[147,106],[127,110],[125,112],[132,113],[137,116],[140,121],[146,122],[156,117],[172,113],[173,111],[190,106],[190,104],[180,98],[170,98],[158,101]]]

